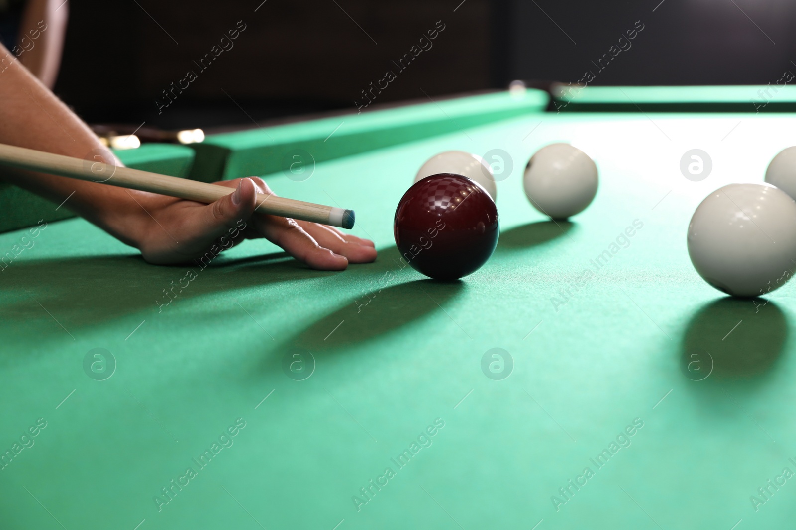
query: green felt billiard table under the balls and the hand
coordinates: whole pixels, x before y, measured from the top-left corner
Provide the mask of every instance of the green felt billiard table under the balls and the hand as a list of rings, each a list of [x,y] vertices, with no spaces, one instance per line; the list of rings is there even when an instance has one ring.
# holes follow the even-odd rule
[[[688,112],[654,87],[634,111],[515,91],[197,146],[193,178],[354,209],[379,257],[345,272],[265,241],[148,265],[82,219],[0,234],[0,526],[789,527],[794,287],[724,296],[685,241],[701,199],[794,143],[793,114],[741,106],[759,88],[732,111],[667,89]],[[566,222],[522,191],[554,141],[600,173]],[[439,282],[400,261],[392,218],[449,149],[494,162],[501,235]]]

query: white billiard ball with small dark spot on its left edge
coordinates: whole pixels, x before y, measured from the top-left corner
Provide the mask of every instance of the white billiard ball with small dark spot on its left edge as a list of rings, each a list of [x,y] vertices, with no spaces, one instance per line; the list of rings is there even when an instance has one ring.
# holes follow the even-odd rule
[[[545,145],[525,166],[525,195],[552,219],[583,211],[597,194],[597,165],[569,144]]]

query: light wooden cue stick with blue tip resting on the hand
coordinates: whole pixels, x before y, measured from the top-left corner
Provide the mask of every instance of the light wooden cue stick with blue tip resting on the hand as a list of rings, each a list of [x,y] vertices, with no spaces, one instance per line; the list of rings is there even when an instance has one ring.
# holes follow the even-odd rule
[[[208,204],[235,191],[234,188],[207,184],[197,180],[159,175],[139,169],[117,167],[102,162],[64,157],[64,155],[6,144],[0,144],[0,165],[110,184],[120,188],[151,191]],[[353,228],[354,223],[353,210],[306,203],[301,200],[262,193],[257,193],[256,211],[348,229]]]

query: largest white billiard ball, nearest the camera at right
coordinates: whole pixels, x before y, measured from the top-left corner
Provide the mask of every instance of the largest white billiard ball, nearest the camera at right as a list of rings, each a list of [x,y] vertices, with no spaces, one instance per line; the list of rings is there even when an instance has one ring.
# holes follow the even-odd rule
[[[708,284],[734,296],[764,295],[796,268],[796,203],[771,184],[719,188],[696,207],[688,247]]]

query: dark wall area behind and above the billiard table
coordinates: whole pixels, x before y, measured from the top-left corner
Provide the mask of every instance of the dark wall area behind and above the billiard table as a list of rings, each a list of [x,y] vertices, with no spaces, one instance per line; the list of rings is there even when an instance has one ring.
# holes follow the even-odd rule
[[[72,0],[55,91],[89,122],[212,127],[356,111],[387,70],[396,79],[369,110],[587,70],[593,85],[766,84],[796,72],[796,3],[785,0],[261,2]],[[238,21],[247,28],[234,48],[199,71],[193,61]],[[398,72],[392,61],[437,21],[433,47]],[[597,70],[637,21],[632,47]],[[188,70],[197,80],[158,114],[155,100]]]

